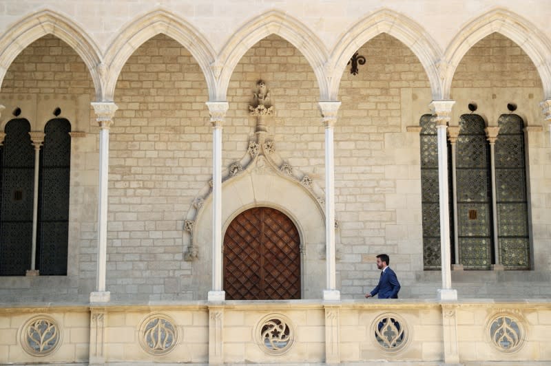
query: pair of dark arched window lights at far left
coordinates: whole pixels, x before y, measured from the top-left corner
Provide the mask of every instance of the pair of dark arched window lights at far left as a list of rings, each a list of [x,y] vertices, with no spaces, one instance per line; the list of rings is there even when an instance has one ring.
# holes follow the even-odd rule
[[[34,146],[30,123],[6,125],[0,147],[0,275],[24,276],[36,255],[40,275],[67,274],[71,138],[69,121],[45,126],[39,159],[37,251],[32,253]]]

